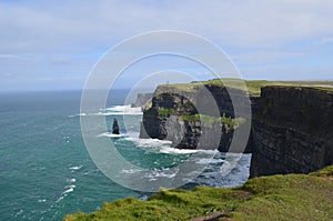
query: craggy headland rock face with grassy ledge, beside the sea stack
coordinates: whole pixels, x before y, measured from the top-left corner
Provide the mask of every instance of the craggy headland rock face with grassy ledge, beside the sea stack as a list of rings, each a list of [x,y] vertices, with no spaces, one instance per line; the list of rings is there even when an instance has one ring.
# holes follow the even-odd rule
[[[216,102],[219,117],[233,118],[234,110],[225,88],[218,86],[195,87],[191,91],[172,87],[159,87],[152,99],[152,107],[144,110],[140,138],[171,140],[179,149],[218,149],[228,152],[234,129],[221,121],[203,121],[182,117],[210,115],[212,96]],[[246,96],[232,89],[236,97]],[[200,111],[199,111],[200,110]],[[245,152],[249,152],[250,145]]]

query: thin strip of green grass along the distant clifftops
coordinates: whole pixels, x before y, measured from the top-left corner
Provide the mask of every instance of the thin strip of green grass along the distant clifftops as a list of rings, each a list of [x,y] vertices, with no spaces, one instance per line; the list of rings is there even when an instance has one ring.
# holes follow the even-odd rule
[[[183,91],[193,92],[198,88],[213,84],[219,87],[225,87],[239,90],[246,90],[252,96],[260,96],[260,90],[262,87],[266,86],[285,86],[285,87],[309,87],[316,88],[320,90],[333,91],[333,81],[265,81],[265,80],[240,80],[240,79],[212,79],[208,81],[199,81],[193,83],[179,83],[179,84],[162,84],[158,87],[158,91]]]

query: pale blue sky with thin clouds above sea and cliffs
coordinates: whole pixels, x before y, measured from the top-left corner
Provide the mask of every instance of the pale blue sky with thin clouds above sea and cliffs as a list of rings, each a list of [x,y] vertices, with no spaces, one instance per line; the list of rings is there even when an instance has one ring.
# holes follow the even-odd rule
[[[333,80],[331,0],[0,0],[0,91],[80,90],[105,51],[159,30],[206,38],[244,79]],[[119,86],[159,68],[209,78],[162,57]]]

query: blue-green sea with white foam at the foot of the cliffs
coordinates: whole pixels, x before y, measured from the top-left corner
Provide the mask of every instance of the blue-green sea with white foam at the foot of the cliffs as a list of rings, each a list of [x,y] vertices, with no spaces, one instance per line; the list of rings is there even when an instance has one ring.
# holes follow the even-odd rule
[[[117,139],[117,149],[138,165],[153,162],[168,168],[191,155],[191,151],[170,148],[168,141],[139,139],[142,112],[124,107],[125,96],[127,91],[114,91],[105,109],[80,113],[79,91],[0,93],[0,220],[62,220],[68,213],[98,210],[105,201],[147,199],[149,193],[121,187],[97,168],[84,145],[80,118],[102,115],[108,125],[117,118],[123,135],[113,138],[108,131],[97,135]],[[130,119],[127,130],[123,115]],[[234,187],[248,180],[251,154],[242,154],[226,177],[220,172],[225,154],[214,154],[204,172],[184,188]],[[198,158],[194,163],[206,160]],[[151,180],[163,175],[173,174],[147,174]]]

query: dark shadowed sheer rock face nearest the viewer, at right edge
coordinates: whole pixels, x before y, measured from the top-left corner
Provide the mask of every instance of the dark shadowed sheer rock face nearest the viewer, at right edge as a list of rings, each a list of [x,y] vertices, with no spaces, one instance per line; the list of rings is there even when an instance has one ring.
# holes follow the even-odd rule
[[[251,177],[309,173],[333,164],[333,92],[262,88],[252,138]]]

